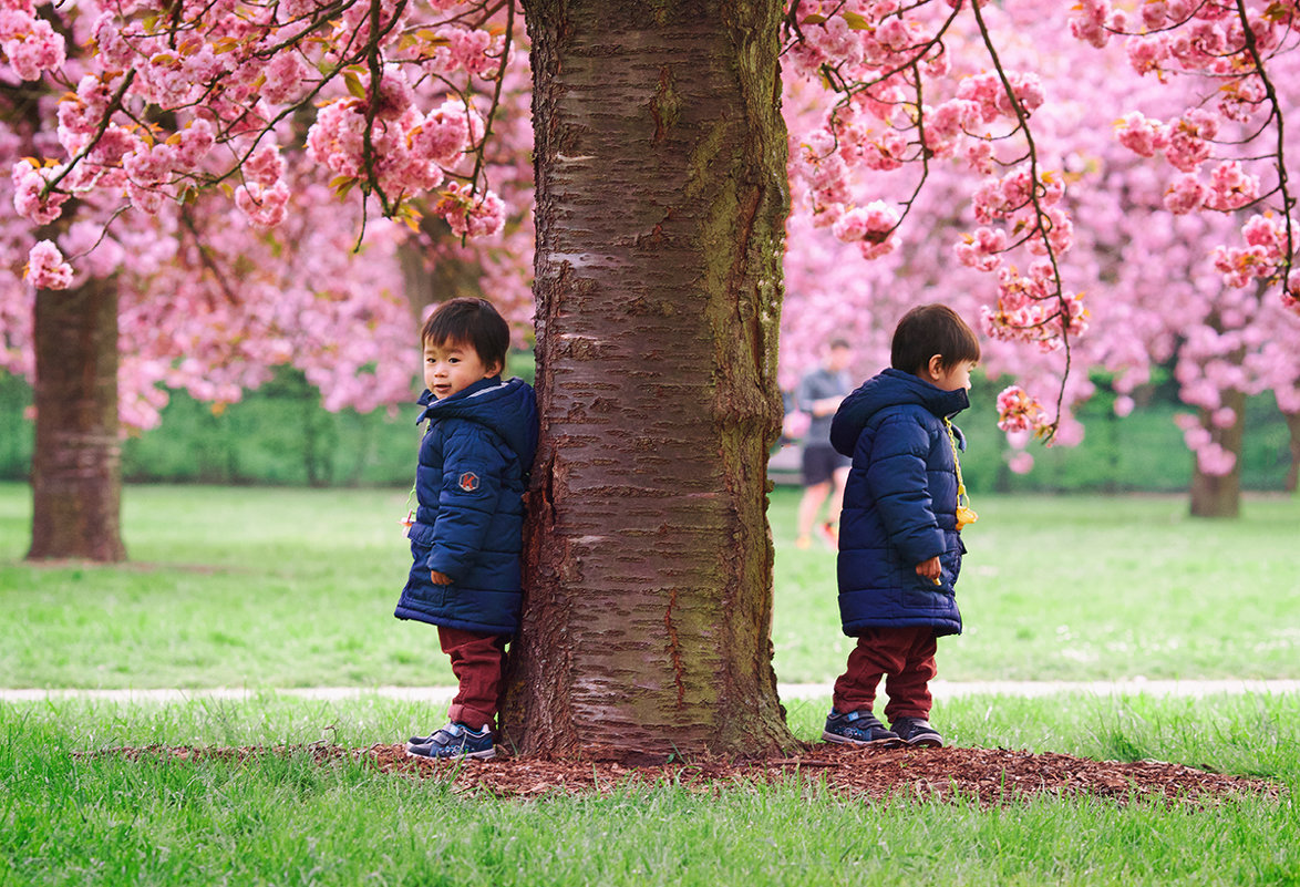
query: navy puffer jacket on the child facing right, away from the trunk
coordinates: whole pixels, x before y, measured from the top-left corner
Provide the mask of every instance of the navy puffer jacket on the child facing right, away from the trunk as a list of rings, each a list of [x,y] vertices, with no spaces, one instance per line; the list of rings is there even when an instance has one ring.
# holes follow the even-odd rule
[[[885,369],[844,399],[831,444],[853,457],[840,516],[840,620],[844,633],[931,626],[958,635],[953,597],[962,567],[957,471],[944,417],[970,404],[901,369]],[[961,432],[954,428],[965,449]],[[940,584],[916,575],[937,555]]]

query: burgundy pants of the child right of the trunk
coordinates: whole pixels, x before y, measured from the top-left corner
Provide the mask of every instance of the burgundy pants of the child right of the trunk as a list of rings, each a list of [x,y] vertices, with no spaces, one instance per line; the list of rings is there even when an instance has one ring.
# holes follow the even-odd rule
[[[868,628],[849,653],[844,674],[835,682],[832,704],[836,711],[870,709],[876,701],[876,685],[885,678],[885,718],[928,718],[930,684],[937,674],[935,629]]]

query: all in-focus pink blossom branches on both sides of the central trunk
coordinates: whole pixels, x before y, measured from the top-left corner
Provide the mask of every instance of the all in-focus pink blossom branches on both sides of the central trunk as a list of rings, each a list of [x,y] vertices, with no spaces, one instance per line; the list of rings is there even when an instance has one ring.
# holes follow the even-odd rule
[[[790,0],[784,12],[789,77],[828,90],[792,146],[797,211],[815,228],[881,259],[939,176],[974,182],[972,217],[956,243],[958,263],[992,281],[974,313],[988,336],[1056,355],[1065,380],[1054,410],[1009,393],[1008,428],[1061,430],[1072,349],[1097,323],[1084,308],[1084,293],[1097,290],[1074,276],[1080,263],[1070,258],[1079,233],[1067,185],[1079,183],[1078,170],[1069,139],[1045,134],[1057,98],[1041,62],[1017,57],[1018,31],[1052,29],[1098,49],[1121,43],[1134,74],[1186,99],[1161,116],[1117,108],[1121,144],[1171,166],[1167,212],[1242,217],[1238,232],[1206,245],[1226,284],[1260,284],[1300,311],[1279,96],[1300,40],[1294,0],[1086,0],[1046,10]],[[463,237],[499,230],[510,212],[482,159],[511,56],[512,3],[86,3],[51,13],[3,0],[3,13],[12,75],[65,90],[52,138],[12,165],[14,207],[32,225],[52,225],[74,198],[101,207],[112,225],[120,211],[159,213],[211,187],[256,229],[281,225],[295,187],[283,153],[300,143],[298,125],[309,125],[307,160],[338,194],[360,191],[368,212],[416,225],[429,211]],[[471,81],[495,92],[476,99]],[[910,179],[881,186],[885,176]],[[65,239],[31,239],[32,285],[72,284],[82,255]]]

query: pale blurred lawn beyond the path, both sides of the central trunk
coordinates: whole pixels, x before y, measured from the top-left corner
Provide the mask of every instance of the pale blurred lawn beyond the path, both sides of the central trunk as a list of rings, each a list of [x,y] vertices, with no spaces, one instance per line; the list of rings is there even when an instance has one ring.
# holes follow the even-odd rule
[[[34,566],[25,486],[0,484],[0,687],[452,683],[426,626],[393,606],[406,493],[130,486],[131,563]],[[776,671],[833,679],[835,558],[794,548],[798,492],[772,497]],[[1300,501],[1236,520],[1179,497],[980,497],[946,680],[1300,678]]]

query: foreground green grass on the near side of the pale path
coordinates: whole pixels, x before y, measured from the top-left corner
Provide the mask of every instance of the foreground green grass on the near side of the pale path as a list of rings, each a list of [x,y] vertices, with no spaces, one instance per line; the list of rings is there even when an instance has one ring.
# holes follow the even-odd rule
[[[815,775],[716,792],[502,800],[309,754],[242,763],[73,752],[124,744],[390,743],[425,713],[367,697],[0,706],[4,884],[1294,884],[1295,697],[966,698],[953,737],[1262,775],[1282,800],[850,799]],[[824,701],[790,714],[819,730]]]

